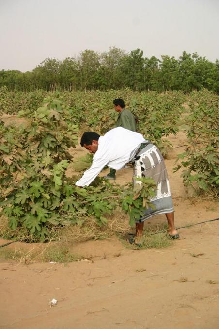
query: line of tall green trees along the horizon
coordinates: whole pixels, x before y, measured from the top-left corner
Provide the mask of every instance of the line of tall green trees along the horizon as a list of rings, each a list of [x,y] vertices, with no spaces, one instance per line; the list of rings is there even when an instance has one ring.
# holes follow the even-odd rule
[[[85,50],[78,58],[63,61],[47,58],[32,71],[1,70],[0,87],[8,90],[109,90],[125,87],[158,92],[190,92],[203,87],[219,93],[219,60],[210,62],[197,53],[182,53],[179,59],[143,56],[139,48],[125,53],[112,47],[101,54]]]

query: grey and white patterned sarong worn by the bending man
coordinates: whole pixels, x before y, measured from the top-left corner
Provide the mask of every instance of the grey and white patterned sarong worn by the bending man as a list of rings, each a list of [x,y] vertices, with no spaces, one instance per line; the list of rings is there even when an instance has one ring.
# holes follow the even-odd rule
[[[156,195],[150,199],[155,209],[145,208],[144,216],[137,222],[143,222],[159,214],[172,213],[174,209],[168,173],[159,149],[153,144],[148,144],[141,149],[136,157],[133,177],[150,177],[157,185]],[[136,181],[133,178],[133,183],[134,185],[141,184],[141,181]]]

